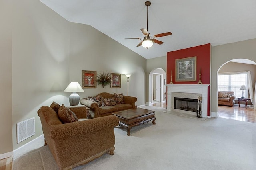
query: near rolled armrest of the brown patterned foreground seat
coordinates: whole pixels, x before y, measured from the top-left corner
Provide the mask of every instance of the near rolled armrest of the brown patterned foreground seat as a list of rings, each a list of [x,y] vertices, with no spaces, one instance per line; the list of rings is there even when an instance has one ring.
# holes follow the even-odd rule
[[[60,125],[52,125],[51,139],[68,139],[74,136],[80,136],[84,133],[92,133],[103,129],[114,128],[119,125],[119,120],[115,115],[77,121]]]

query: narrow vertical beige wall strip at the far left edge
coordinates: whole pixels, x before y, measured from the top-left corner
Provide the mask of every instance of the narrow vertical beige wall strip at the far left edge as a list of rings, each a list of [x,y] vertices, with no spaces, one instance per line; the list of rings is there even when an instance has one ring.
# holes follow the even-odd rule
[[[12,1],[0,0],[0,154],[12,152]]]

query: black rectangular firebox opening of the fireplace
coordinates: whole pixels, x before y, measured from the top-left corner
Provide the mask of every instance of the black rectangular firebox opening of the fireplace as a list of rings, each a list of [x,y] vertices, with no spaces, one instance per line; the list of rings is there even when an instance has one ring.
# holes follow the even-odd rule
[[[174,97],[174,109],[196,112],[198,109],[198,100]]]

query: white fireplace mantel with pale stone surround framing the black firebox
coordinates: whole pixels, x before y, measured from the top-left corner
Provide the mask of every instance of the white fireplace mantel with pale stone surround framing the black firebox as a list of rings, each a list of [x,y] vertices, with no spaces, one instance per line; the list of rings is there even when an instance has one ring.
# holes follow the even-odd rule
[[[175,111],[180,113],[189,113],[196,115],[196,111],[187,111],[174,109],[175,98],[189,98],[197,100],[200,97],[202,100],[201,111],[202,117],[207,117],[208,109],[208,86],[209,84],[167,84],[167,113]]]

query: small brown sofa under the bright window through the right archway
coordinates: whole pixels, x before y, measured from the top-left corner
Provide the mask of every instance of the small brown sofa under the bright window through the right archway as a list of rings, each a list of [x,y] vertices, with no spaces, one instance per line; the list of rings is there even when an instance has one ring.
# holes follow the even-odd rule
[[[218,91],[218,105],[234,106],[235,98],[232,91]]]

